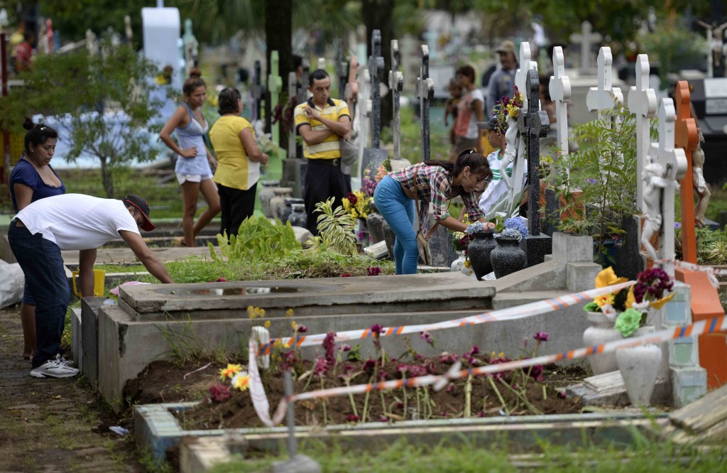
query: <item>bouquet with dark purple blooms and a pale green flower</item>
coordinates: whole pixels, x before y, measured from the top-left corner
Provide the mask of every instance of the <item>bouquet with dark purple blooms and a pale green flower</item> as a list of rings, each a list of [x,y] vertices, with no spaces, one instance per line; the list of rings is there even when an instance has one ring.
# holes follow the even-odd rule
[[[629,289],[627,309],[616,317],[614,328],[624,337],[632,335],[638,327],[648,323],[652,308],[659,310],[674,297],[674,293],[665,295],[673,287],[674,281],[663,269],[651,268],[640,272],[636,277],[636,285]]]

